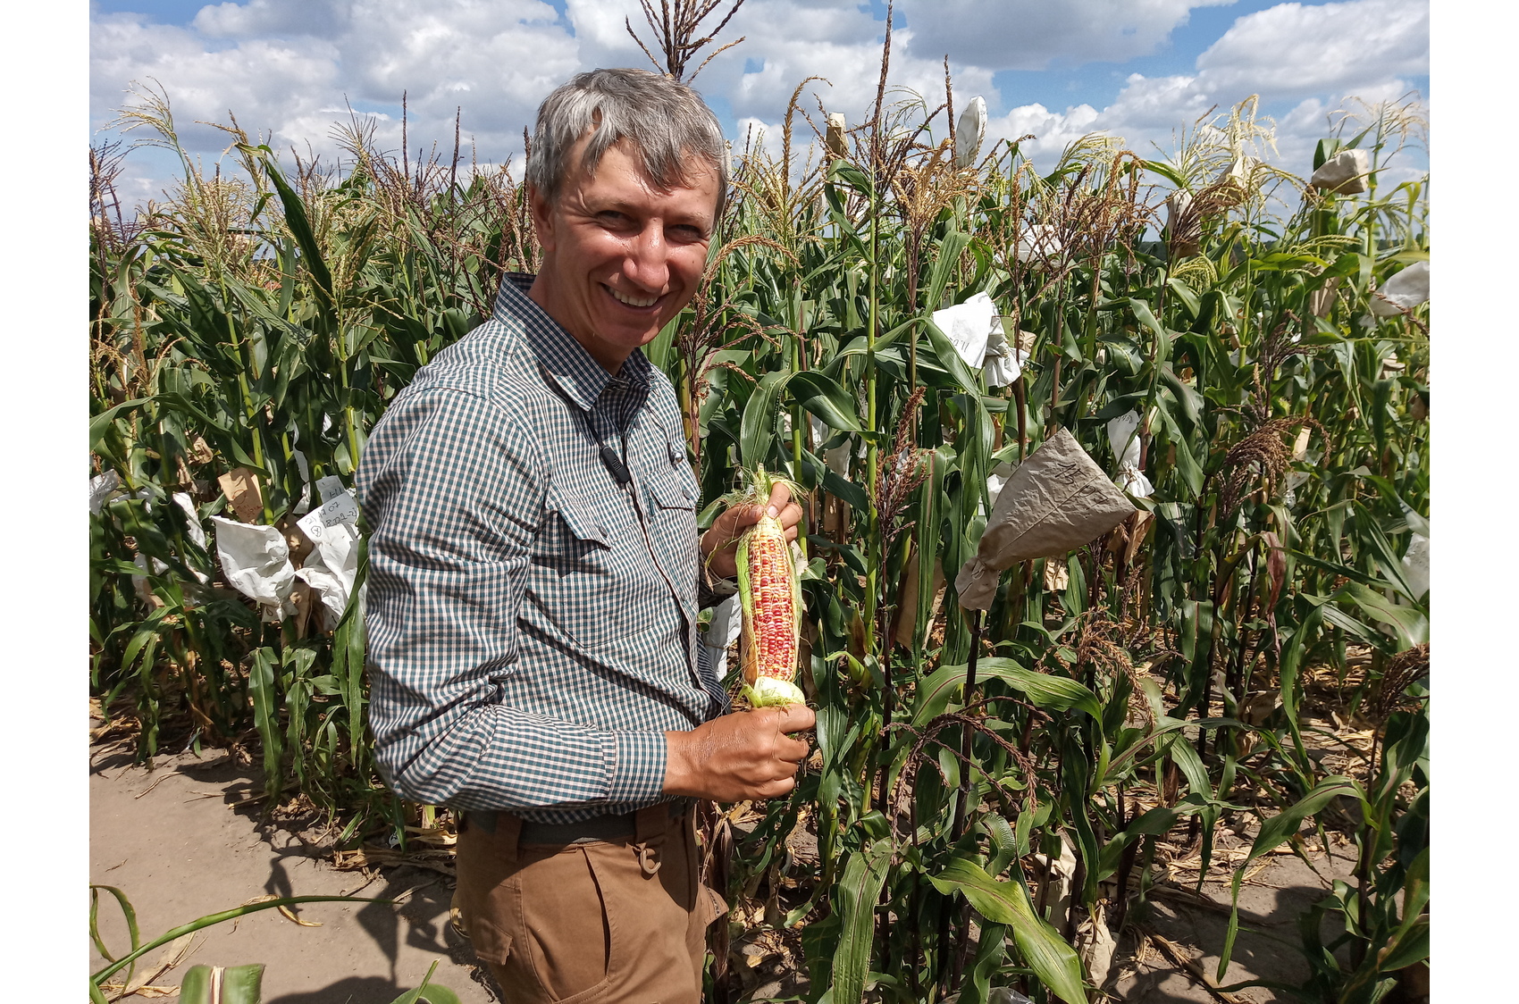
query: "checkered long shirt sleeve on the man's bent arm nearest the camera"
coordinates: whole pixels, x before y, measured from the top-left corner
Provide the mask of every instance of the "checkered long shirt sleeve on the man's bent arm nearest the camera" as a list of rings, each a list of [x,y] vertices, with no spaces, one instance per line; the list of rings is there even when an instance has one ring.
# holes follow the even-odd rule
[[[474,810],[655,802],[664,734],[501,700],[544,519],[541,439],[454,389],[401,395],[365,448],[375,759],[401,796]]]

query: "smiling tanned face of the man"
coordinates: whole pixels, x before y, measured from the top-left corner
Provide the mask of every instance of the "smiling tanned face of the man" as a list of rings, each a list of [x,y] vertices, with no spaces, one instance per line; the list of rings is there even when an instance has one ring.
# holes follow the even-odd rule
[[[611,372],[690,302],[715,223],[717,173],[693,172],[690,188],[659,191],[627,141],[602,155],[595,176],[576,167],[550,205],[532,193],[544,264],[529,296]]]

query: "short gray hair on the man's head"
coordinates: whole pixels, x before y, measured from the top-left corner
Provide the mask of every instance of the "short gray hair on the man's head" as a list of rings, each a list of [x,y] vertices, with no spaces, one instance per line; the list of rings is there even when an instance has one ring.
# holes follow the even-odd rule
[[[561,84],[538,106],[533,150],[527,158],[527,184],[548,202],[571,164],[570,150],[591,132],[580,166],[595,175],[595,166],[618,140],[638,150],[644,176],[658,188],[690,185],[694,155],[717,173],[717,217],[728,199],[728,147],[717,115],[690,85],[649,70],[591,70]],[[714,219],[715,222],[715,219]]]

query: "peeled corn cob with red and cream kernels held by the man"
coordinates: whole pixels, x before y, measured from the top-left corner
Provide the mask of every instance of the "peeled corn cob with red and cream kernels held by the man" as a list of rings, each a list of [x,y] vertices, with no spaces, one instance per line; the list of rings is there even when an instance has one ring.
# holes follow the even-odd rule
[[[767,504],[776,480],[758,468],[750,489],[737,501]],[[802,703],[807,699],[794,684],[802,586],[779,519],[760,516],[738,538],[735,557],[744,636],[743,694],[756,708]]]

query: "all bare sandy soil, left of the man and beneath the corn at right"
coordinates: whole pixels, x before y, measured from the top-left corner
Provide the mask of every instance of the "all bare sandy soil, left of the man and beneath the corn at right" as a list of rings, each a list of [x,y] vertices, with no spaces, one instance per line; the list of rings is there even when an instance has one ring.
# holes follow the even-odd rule
[[[144,939],[194,917],[270,895],[360,895],[401,899],[386,904],[308,904],[302,927],[276,910],[197,933],[172,969],[149,987],[178,987],[197,963],[235,966],[264,963],[264,1004],[390,1004],[421,983],[436,960],[434,980],[465,1004],[497,1001],[498,990],[474,952],[448,923],[453,878],[444,870],[399,866],[339,870],[331,834],[314,816],[275,823],[261,817],[254,769],[223,750],[201,758],[158,756],[152,767],[132,766],[128,747],[97,747],[90,776],[90,881],[120,889],[137,911]],[[1309,840],[1317,849],[1317,841]],[[1173,863],[1174,884],[1159,887],[1139,923],[1118,942],[1109,993],[1133,1004],[1221,999],[1203,987],[1197,972],[1214,974],[1227,925],[1229,876],[1244,858],[1247,835],[1221,831],[1214,867],[1202,895],[1195,855]],[[1241,898],[1241,933],[1223,984],[1271,978],[1296,983],[1305,975],[1297,949],[1297,917],[1322,895],[1328,878],[1343,878],[1353,849],[1312,854],[1323,878],[1291,854],[1270,855],[1247,878]],[[1191,870],[1188,870],[1191,863]],[[447,869],[447,866],[444,866]],[[128,943],[120,910],[100,902],[100,933],[120,952]],[[773,931],[735,937],[731,968],[743,987],[740,1001],[784,998],[805,987],[791,939]],[[149,954],[149,966],[159,955]],[[103,960],[90,948],[91,971]],[[140,996],[163,995],[144,990]],[[1276,999],[1270,990],[1233,995],[1241,1004]]]

